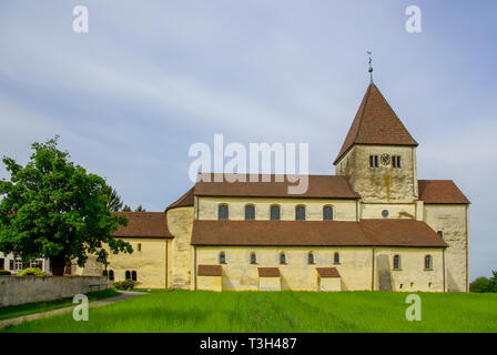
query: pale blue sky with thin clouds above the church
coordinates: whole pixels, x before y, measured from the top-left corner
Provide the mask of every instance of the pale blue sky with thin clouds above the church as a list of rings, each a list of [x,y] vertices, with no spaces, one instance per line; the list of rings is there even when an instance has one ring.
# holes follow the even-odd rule
[[[89,32],[73,31],[85,6]],[[422,32],[409,33],[417,6]],[[0,2],[0,155],[60,148],[123,201],[163,211],[192,186],[189,149],[308,143],[333,174],[369,81],[417,148],[418,179],[471,201],[470,278],[497,270],[495,1]],[[8,178],[3,165],[0,178]]]

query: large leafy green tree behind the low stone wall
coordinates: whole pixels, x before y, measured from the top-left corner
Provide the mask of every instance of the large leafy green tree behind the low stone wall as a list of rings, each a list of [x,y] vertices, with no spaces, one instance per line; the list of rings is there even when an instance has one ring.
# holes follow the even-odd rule
[[[112,237],[128,220],[111,214],[105,181],[70,162],[58,138],[33,143],[26,166],[3,156],[10,181],[0,181],[0,251],[50,258],[55,275],[71,261],[83,266],[89,255],[108,265],[104,244],[114,254],[133,252]]]

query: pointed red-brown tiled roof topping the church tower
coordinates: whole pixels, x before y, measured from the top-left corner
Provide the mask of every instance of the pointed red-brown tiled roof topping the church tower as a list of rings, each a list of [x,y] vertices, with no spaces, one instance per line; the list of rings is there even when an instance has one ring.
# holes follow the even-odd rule
[[[354,144],[417,145],[417,142],[407,132],[404,124],[373,82],[364,94],[354,122],[352,122],[334,164]]]

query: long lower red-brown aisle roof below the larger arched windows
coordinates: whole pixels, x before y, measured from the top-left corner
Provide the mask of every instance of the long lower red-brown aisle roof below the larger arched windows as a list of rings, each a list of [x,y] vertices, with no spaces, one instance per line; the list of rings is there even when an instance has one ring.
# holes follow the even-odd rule
[[[194,221],[192,245],[433,246],[447,244],[425,222]]]

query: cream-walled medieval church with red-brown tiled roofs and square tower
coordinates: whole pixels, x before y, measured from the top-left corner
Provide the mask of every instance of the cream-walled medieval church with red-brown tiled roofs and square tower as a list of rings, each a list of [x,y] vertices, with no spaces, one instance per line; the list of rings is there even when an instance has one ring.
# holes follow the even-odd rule
[[[164,212],[120,212],[132,254],[73,272],[146,288],[468,292],[469,201],[417,179],[417,145],[372,81],[334,175],[298,195],[274,175],[199,179]]]

